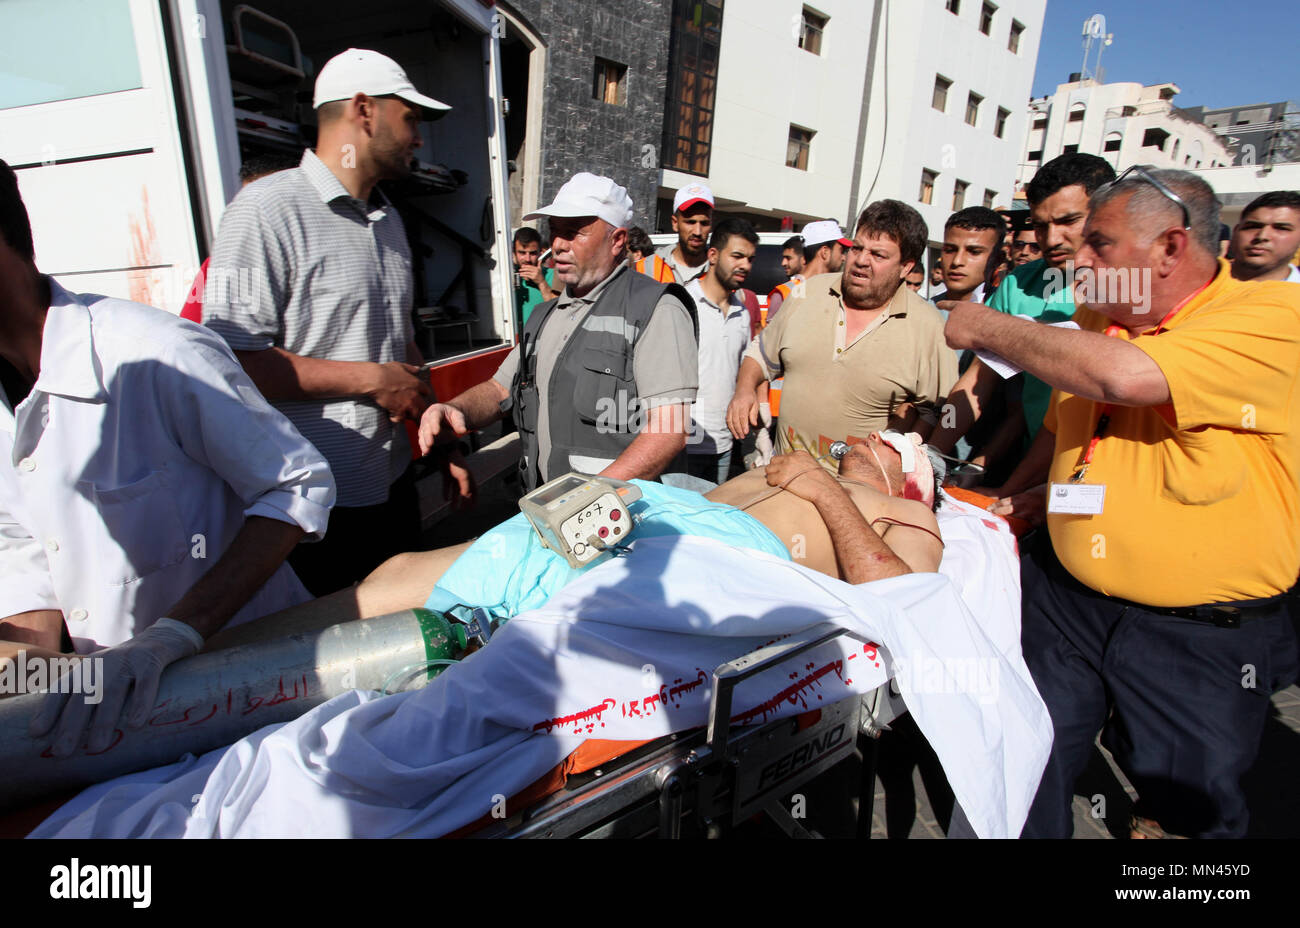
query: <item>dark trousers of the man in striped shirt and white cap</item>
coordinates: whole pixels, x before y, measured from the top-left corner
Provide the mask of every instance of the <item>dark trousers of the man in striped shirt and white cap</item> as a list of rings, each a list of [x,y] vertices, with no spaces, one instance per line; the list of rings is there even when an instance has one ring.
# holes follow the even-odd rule
[[[352,586],[395,554],[420,545],[420,499],[407,468],[376,506],[335,506],[318,542],[299,545],[289,564],[313,597]]]

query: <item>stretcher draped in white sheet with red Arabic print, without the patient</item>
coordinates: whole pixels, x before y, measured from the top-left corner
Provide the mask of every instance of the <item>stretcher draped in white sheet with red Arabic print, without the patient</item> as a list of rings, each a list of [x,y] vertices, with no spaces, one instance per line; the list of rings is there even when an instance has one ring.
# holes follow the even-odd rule
[[[962,519],[953,555],[991,534],[976,513]],[[708,538],[646,538],[638,558],[604,563],[515,615],[420,691],[348,690],[237,749],[88,790],[38,833],[685,836],[760,815],[805,834],[812,828],[785,798],[832,782],[831,768],[854,754],[866,760],[855,824],[867,833],[871,736],[894,710],[880,684],[897,671],[974,832],[1015,834],[1050,721],[1019,656],[1010,542],[996,545],[992,560],[962,561],[988,569],[952,565],[959,584],[909,574],[849,586]],[[966,602],[1004,621],[976,623]],[[866,642],[883,642],[892,665]],[[949,660],[992,665],[994,686]],[[634,711],[663,693],[671,704]],[[736,724],[745,720],[754,724]]]

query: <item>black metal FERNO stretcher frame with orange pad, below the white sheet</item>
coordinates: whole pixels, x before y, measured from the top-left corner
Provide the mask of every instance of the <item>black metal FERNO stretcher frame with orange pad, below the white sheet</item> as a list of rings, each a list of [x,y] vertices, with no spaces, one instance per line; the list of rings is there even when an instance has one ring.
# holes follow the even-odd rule
[[[901,701],[889,684],[866,697],[853,695],[793,719],[733,727],[732,694],[741,681],[771,671],[837,637],[863,643],[864,636],[832,624],[816,625],[785,641],[724,663],[712,672],[708,724],[671,734],[615,755],[607,742],[543,777],[523,797],[517,812],[462,834],[476,838],[680,838],[724,837],[755,815],[792,838],[820,834],[807,827],[797,803],[784,802],[836,764],[862,762],[857,834],[871,834],[875,794],[875,740],[896,717]],[[529,801],[532,799],[532,801]]]

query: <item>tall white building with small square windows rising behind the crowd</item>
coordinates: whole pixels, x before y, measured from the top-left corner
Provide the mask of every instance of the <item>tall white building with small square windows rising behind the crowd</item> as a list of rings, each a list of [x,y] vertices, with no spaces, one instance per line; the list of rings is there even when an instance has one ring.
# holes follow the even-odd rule
[[[675,30],[660,229],[698,178],[774,231],[894,198],[937,242],[954,208],[1010,203],[1045,0],[675,5],[716,36]]]

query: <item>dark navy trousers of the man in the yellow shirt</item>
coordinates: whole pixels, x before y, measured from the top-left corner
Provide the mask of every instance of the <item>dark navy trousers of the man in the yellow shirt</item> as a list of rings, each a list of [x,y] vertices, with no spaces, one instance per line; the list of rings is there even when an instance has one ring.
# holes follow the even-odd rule
[[[1244,836],[1242,775],[1269,697],[1296,675],[1287,604],[1239,628],[1160,615],[1075,581],[1045,537],[1020,558],[1020,585],[1024,662],[1054,730],[1023,837],[1070,837],[1074,782],[1102,728],[1139,815],[1171,834]]]

